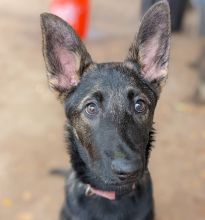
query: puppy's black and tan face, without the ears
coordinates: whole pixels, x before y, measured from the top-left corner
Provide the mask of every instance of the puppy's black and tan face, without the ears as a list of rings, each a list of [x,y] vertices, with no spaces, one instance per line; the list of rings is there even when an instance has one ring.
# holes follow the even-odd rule
[[[72,161],[81,158],[75,168],[95,188],[131,187],[146,170],[157,93],[136,71],[91,65],[65,98]]]

